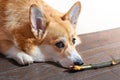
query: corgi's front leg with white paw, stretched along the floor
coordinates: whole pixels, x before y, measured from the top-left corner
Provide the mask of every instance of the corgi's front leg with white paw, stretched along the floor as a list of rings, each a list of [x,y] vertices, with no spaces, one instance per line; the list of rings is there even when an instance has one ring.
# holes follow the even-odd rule
[[[12,58],[21,65],[33,63],[33,58],[23,52],[10,41],[0,41],[0,51],[8,58]]]

